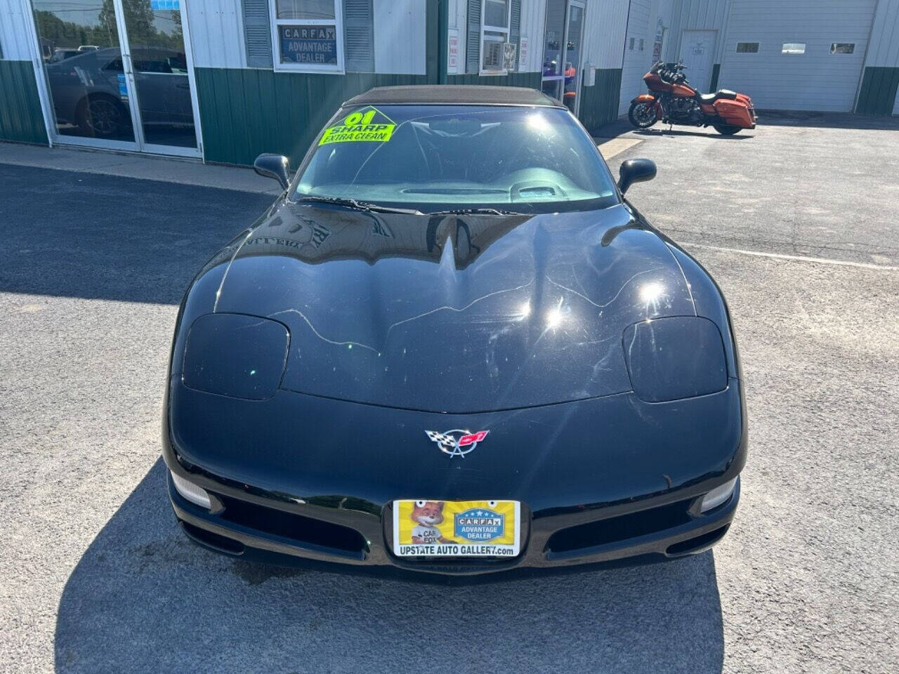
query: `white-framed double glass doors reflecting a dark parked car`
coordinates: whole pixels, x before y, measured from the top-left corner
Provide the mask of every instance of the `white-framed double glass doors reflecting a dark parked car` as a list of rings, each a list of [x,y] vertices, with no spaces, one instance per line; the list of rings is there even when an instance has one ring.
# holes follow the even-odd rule
[[[32,0],[54,142],[200,156],[181,0]]]

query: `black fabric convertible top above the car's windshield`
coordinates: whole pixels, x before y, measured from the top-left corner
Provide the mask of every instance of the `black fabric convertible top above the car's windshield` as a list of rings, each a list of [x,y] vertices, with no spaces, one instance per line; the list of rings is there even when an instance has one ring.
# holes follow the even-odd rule
[[[353,96],[344,105],[377,103],[443,103],[448,105],[542,105],[561,108],[562,103],[536,89],[523,86],[487,86],[481,84],[416,84],[412,86],[376,86]]]

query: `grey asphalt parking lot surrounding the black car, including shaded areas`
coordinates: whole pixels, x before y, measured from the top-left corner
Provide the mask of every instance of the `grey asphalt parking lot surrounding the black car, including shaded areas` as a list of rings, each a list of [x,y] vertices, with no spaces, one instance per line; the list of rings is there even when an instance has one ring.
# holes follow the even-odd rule
[[[0,164],[0,670],[896,671],[899,124],[855,119],[628,131],[609,161],[656,161],[628,197],[733,314],[751,445],[724,541],[453,588],[257,566],[176,528],[177,302],[271,197]]]

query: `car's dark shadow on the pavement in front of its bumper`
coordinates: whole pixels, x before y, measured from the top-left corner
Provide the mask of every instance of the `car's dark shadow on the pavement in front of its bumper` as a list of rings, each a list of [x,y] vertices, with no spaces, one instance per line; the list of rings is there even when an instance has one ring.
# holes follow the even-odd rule
[[[58,672],[720,672],[708,552],[671,563],[445,587],[280,569],[177,528],[157,460],[59,602]]]

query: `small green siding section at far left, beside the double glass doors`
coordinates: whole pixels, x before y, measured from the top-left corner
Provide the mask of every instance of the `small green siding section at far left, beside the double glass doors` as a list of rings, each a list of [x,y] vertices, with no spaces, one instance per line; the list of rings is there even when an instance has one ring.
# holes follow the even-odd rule
[[[31,61],[0,60],[0,140],[49,145]]]

